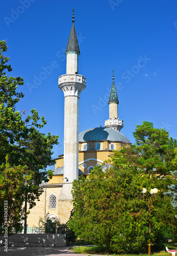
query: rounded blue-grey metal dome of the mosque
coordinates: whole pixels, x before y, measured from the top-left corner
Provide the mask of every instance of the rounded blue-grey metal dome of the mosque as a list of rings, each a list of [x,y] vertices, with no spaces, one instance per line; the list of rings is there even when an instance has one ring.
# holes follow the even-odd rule
[[[79,134],[79,142],[102,140],[130,143],[122,133],[106,127],[91,128]]]

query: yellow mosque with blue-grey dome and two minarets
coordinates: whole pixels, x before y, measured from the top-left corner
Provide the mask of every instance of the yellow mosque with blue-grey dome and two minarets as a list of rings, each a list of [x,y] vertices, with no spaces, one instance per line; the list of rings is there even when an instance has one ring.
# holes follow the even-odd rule
[[[74,27],[72,27],[66,47],[66,74],[59,76],[58,85],[64,93],[64,154],[56,158],[53,178],[47,184],[41,184],[40,201],[30,209],[27,218],[28,229],[37,226],[39,218],[44,220],[58,217],[61,223],[66,223],[72,210],[71,188],[74,179],[83,175],[89,177],[91,169],[110,159],[113,150],[129,144],[120,130],[123,121],[118,118],[118,97],[112,76],[112,87],[109,97],[109,119],[105,127],[99,126],[79,134],[79,98],[86,87],[86,78],[79,75],[80,48]]]

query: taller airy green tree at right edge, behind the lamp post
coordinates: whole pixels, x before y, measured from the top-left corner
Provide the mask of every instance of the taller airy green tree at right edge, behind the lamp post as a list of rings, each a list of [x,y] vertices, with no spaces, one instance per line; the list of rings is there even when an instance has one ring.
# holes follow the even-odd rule
[[[121,150],[123,158],[149,177],[156,175],[157,187],[161,190],[156,219],[163,225],[164,233],[168,233],[168,237],[175,240],[176,211],[170,206],[170,200],[164,192],[167,191],[169,184],[176,184],[171,175],[171,171],[174,172],[177,167],[176,140],[169,138],[168,132],[164,129],[155,128],[153,123],[147,121],[143,121],[142,125],[136,125],[133,135],[135,144]],[[113,158],[117,161],[116,153]]]

